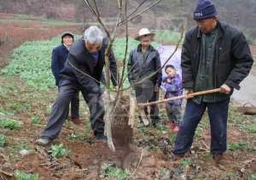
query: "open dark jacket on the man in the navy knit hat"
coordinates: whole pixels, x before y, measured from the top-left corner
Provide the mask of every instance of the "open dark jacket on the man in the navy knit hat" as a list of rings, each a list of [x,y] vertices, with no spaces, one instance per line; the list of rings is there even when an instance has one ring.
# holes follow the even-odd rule
[[[248,75],[253,58],[247,40],[241,31],[218,22],[219,32],[214,54],[213,87],[224,83],[240,89],[240,82]],[[182,71],[183,87],[194,88],[195,78],[201,59],[201,30],[193,27],[187,32],[183,42]]]

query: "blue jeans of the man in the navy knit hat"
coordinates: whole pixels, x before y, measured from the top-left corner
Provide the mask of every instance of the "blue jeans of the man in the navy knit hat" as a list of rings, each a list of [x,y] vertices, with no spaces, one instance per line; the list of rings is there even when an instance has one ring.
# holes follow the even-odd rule
[[[177,132],[173,154],[184,155],[189,151],[193,143],[195,129],[206,109],[211,126],[211,153],[212,155],[224,153],[227,149],[229,104],[230,99],[216,103],[201,104],[196,104],[194,101],[188,100],[180,130]]]

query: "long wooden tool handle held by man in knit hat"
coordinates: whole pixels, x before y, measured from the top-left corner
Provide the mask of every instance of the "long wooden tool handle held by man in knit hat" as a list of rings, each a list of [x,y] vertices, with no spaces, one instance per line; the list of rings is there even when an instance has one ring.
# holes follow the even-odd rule
[[[211,89],[211,90],[207,90],[207,91],[189,93],[189,94],[185,94],[185,95],[181,95],[181,96],[177,96],[177,97],[173,97],[173,98],[166,98],[166,99],[162,99],[162,100],[154,101],[154,102],[150,102],[150,103],[145,103],[145,104],[140,103],[140,104],[138,104],[138,106],[148,106],[148,105],[152,105],[152,104],[161,104],[161,103],[166,103],[168,101],[173,101],[173,100],[177,100],[177,99],[181,99],[181,98],[193,98],[195,96],[201,96],[201,95],[206,95],[206,94],[210,94],[210,93],[219,93],[219,92],[220,92],[220,88]]]

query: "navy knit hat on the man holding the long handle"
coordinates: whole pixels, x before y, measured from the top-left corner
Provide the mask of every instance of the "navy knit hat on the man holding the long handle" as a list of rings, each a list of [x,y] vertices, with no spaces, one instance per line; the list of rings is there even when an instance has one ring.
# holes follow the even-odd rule
[[[209,19],[217,14],[217,9],[211,0],[198,0],[194,11],[194,20]]]

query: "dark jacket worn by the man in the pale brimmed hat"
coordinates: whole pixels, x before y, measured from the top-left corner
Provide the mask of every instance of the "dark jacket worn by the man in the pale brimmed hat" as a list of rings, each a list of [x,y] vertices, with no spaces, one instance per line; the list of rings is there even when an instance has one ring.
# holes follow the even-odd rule
[[[130,83],[139,82],[144,77],[147,77],[160,69],[160,54],[152,46],[149,47],[148,51],[147,59],[144,62],[140,62],[140,60],[142,60],[140,56],[143,56],[141,53],[141,45],[138,45],[137,48],[131,51],[127,65],[128,79]],[[160,87],[161,78],[162,72],[160,70],[154,76],[150,77],[149,81]]]

